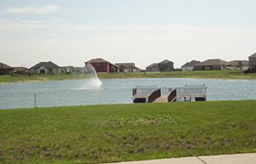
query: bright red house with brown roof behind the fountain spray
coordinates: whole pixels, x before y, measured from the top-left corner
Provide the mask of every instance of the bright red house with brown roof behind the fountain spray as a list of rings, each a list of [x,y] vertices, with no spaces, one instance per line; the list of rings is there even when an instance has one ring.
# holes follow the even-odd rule
[[[109,61],[104,60],[103,58],[93,58],[85,62],[85,66],[87,66],[87,64],[93,66],[96,72],[119,72],[118,66],[115,66],[115,64],[112,64]]]

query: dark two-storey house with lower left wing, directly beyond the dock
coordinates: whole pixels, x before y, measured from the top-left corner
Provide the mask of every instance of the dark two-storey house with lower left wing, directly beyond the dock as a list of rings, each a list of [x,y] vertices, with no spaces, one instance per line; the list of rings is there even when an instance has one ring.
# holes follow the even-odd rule
[[[174,71],[174,62],[163,60],[160,63],[152,63],[146,67],[146,71]]]

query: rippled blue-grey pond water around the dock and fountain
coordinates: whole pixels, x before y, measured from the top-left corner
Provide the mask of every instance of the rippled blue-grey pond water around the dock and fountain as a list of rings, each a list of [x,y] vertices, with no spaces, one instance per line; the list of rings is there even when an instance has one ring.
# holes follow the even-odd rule
[[[25,82],[0,85],[0,109],[32,108],[36,106],[77,106],[92,104],[130,104],[136,85],[158,87],[207,86],[207,101],[256,99],[256,80],[224,79],[102,79],[102,86],[92,89],[89,79],[55,82]],[[91,83],[91,82],[90,82]]]

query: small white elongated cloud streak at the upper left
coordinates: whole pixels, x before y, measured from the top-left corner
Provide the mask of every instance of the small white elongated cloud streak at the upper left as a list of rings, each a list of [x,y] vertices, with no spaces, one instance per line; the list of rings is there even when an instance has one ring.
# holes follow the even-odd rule
[[[11,7],[6,9],[5,12],[12,14],[48,14],[58,11],[59,8],[60,7],[58,5],[51,4],[44,7]]]

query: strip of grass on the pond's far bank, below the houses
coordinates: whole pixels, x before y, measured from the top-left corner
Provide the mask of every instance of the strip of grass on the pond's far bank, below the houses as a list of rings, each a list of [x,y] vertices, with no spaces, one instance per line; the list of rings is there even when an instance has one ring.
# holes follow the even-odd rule
[[[168,72],[139,72],[139,73],[112,73],[98,74],[101,79],[115,78],[206,78],[206,79],[256,79],[256,74],[244,74],[243,71],[168,71]],[[55,74],[10,77],[0,76],[0,83],[33,82],[47,80],[83,79],[82,74]]]

